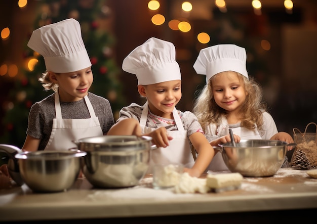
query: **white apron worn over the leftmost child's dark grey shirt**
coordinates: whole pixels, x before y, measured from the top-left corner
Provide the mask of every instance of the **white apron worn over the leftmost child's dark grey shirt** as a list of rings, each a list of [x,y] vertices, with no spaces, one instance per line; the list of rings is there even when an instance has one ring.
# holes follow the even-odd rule
[[[86,95],[84,97],[90,117],[88,119],[62,119],[58,92],[55,94],[55,113],[50,140],[44,150],[68,150],[76,147],[72,142],[87,137],[103,136],[98,117]]]

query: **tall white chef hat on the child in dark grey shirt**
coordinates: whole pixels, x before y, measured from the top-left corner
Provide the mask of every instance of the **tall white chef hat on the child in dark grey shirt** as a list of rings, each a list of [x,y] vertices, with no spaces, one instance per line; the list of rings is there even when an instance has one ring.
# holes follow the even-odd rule
[[[44,57],[47,71],[67,73],[91,66],[81,25],[74,19],[34,30],[27,46]]]

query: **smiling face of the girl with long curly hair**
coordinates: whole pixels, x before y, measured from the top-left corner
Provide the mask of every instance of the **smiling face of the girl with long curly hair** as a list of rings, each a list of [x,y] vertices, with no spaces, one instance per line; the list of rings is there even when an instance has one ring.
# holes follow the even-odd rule
[[[212,91],[217,105],[228,114],[239,114],[247,93],[243,80],[233,71],[225,71],[212,78]]]

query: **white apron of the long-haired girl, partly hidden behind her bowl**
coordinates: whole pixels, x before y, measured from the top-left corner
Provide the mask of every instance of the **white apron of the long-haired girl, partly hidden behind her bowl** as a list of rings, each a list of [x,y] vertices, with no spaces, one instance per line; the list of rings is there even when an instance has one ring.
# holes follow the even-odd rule
[[[262,139],[258,130],[249,130],[245,127],[234,127],[231,128],[234,135],[240,136],[241,139]],[[217,129],[218,136],[229,135],[228,125],[220,125]],[[228,167],[223,161],[222,155],[218,152],[211,163],[209,164],[208,170],[227,170]]]

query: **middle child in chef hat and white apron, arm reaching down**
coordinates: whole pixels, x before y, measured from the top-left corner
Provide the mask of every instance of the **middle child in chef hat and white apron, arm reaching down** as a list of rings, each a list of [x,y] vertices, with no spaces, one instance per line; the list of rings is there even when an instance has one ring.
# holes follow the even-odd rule
[[[140,122],[142,134],[152,137],[158,148],[151,151],[149,172],[154,164],[181,163],[187,165],[185,171],[191,176],[200,176],[212,160],[214,149],[193,113],[175,108],[182,97],[175,56],[171,42],[151,37],[124,59],[122,68],[136,75],[138,92],[146,103],[124,107],[117,121],[134,118]],[[196,161],[190,144],[198,152]]]

